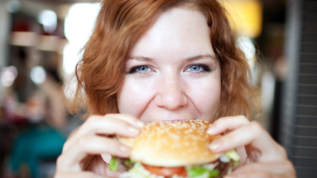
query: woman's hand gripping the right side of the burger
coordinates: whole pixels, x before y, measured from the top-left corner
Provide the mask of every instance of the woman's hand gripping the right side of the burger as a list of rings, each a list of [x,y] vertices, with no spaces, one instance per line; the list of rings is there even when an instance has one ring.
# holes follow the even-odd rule
[[[244,146],[247,155],[243,165],[226,177],[296,177],[285,149],[258,122],[250,122],[245,116],[223,117],[207,129],[207,133],[211,135],[219,135],[225,131],[229,133],[213,141],[210,149],[220,153]]]

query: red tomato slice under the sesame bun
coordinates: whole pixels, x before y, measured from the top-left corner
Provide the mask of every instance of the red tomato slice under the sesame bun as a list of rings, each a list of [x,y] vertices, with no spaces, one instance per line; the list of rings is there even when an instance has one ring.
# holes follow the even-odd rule
[[[173,175],[179,175],[182,177],[187,177],[187,172],[185,167],[156,167],[156,166],[149,166],[149,165],[144,165],[144,168],[150,173],[158,175],[158,176],[163,176],[163,177],[171,177]]]

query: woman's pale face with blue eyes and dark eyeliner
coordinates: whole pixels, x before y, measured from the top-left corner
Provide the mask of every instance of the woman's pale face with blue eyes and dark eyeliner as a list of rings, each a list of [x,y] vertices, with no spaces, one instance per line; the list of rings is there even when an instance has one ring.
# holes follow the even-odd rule
[[[221,90],[214,55],[204,15],[184,7],[160,14],[125,64],[119,112],[145,122],[213,122]]]

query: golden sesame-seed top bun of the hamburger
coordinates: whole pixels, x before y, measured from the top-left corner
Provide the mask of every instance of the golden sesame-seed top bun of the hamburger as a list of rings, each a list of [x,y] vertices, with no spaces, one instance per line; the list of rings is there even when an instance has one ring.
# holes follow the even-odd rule
[[[220,155],[211,152],[211,125],[202,120],[147,122],[135,138],[119,141],[132,148],[130,159],[150,166],[179,167],[210,163]]]

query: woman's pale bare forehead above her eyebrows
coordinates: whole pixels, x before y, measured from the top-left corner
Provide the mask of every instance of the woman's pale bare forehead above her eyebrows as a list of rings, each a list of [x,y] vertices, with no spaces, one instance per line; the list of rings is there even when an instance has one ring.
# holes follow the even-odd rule
[[[188,7],[175,7],[158,15],[157,20],[133,47],[132,55],[161,55],[210,52],[211,43],[206,17]],[[141,53],[141,54],[139,54]]]

